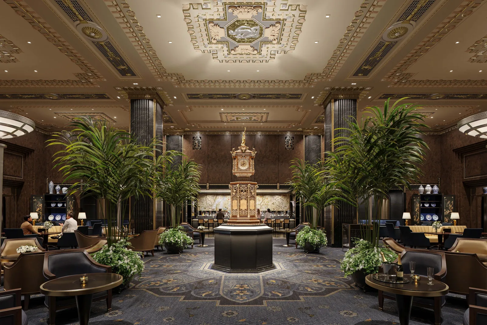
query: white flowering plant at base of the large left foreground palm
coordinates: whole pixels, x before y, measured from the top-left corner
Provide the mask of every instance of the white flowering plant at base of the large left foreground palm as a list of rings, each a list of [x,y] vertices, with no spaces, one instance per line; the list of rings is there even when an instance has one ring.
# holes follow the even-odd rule
[[[144,262],[136,252],[127,248],[129,245],[126,239],[121,239],[110,247],[104,245],[92,255],[96,262],[112,266],[113,273],[123,276],[122,285],[129,284],[135,275],[140,276],[144,270]]]

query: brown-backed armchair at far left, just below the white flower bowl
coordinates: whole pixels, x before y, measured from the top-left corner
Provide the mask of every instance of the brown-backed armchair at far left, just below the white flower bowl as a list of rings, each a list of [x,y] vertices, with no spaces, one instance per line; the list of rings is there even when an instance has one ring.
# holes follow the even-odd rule
[[[42,274],[44,251],[20,254],[13,263],[3,265],[3,288],[20,288],[24,296],[24,310],[29,309],[30,296],[39,293],[39,286],[46,282]]]

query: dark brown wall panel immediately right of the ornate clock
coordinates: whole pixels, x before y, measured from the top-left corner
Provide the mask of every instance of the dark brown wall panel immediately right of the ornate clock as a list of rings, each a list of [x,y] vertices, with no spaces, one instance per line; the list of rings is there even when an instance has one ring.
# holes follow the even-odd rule
[[[255,181],[261,184],[278,183],[279,135],[256,134]],[[284,147],[282,147],[283,150]]]

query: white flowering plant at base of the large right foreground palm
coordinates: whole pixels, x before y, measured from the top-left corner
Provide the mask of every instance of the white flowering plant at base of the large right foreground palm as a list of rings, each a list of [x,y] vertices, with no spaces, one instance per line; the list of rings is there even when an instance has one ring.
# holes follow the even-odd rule
[[[394,262],[397,258],[397,254],[384,245],[375,247],[369,241],[357,240],[355,247],[345,252],[340,268],[345,272],[345,276],[349,276],[359,270],[363,270],[365,274],[377,273],[380,264],[382,264],[380,252],[384,253],[387,262]]]

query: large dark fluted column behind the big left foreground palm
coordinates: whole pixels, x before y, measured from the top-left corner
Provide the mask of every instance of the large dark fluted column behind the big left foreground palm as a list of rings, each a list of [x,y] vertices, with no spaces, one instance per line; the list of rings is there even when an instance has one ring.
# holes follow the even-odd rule
[[[162,108],[164,102],[156,91],[134,88],[127,91],[130,99],[130,131],[137,142],[148,144],[154,138],[162,141]],[[135,230],[155,229],[162,224],[162,203],[154,202],[150,197],[131,200],[131,219]]]

